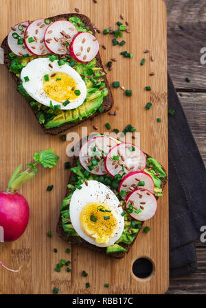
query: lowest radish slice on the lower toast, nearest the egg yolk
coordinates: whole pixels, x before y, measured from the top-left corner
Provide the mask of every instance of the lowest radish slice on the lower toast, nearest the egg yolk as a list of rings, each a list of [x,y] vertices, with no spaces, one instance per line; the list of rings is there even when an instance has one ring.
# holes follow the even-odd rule
[[[157,200],[148,189],[136,189],[126,198],[126,209],[135,220],[150,220],[157,210]]]

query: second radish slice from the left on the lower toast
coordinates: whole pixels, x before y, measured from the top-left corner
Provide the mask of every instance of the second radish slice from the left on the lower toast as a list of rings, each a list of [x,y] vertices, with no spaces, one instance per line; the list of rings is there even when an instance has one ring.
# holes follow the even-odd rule
[[[146,156],[132,143],[119,143],[108,152],[104,164],[111,176],[123,175],[133,171],[143,171],[146,167]]]

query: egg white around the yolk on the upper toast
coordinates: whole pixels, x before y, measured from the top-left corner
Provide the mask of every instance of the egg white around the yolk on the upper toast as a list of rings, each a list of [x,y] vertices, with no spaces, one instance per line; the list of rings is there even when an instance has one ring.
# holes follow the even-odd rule
[[[49,67],[49,63],[52,64],[53,68]],[[52,72],[66,73],[71,76],[71,78],[73,78],[76,82],[77,89],[81,92],[80,96],[77,96],[77,98],[70,102],[67,106],[63,106],[60,102],[56,102],[54,99],[51,99],[43,90],[44,75],[49,75]],[[30,79],[30,81],[25,82],[24,78],[26,76]],[[67,64],[59,66],[57,60],[54,60],[54,62],[51,62],[49,58],[38,58],[32,60],[22,69],[21,80],[25,91],[27,91],[27,93],[37,102],[48,107],[52,101],[52,105],[60,105],[60,109],[74,109],[82,105],[84,99],[87,97],[87,87],[80,74]]]

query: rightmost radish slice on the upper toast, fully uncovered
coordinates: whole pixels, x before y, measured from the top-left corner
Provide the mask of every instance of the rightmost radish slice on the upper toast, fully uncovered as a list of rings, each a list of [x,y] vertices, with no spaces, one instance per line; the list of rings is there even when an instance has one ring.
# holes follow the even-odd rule
[[[74,36],[69,51],[74,60],[90,62],[100,49],[97,38],[89,32],[80,32]]]

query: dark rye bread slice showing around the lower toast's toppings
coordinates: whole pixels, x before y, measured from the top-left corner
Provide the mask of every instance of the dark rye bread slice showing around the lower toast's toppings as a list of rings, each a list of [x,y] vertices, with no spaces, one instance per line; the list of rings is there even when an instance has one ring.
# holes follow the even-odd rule
[[[80,147],[81,147],[81,144],[82,144],[82,140],[80,141]],[[80,148],[79,147],[79,148]],[[73,163],[72,163],[72,167],[76,167],[77,163],[78,163],[78,159],[79,157],[77,156],[77,152],[75,153],[76,156],[74,156],[73,158]],[[146,153],[145,153],[146,154]],[[151,157],[150,155],[146,154],[146,157]],[[161,166],[163,171],[165,171],[164,167]],[[165,172],[166,173],[166,172]],[[69,182],[68,184],[71,184],[73,185],[73,181],[71,179],[71,177],[73,176],[73,172],[69,171]],[[168,176],[166,176],[165,178],[161,178],[161,188],[164,189],[165,187],[165,184],[166,182],[168,181]],[[66,191],[66,194],[65,194],[65,198],[67,196],[69,196],[71,194],[71,189],[67,188],[67,191]],[[156,197],[156,199],[158,200],[159,198]],[[144,222],[142,222],[141,225],[143,225]],[[82,239],[82,237],[69,237],[67,235],[67,233],[65,232],[65,230],[63,229],[62,227],[62,217],[61,217],[61,213],[60,213],[60,216],[59,216],[59,219],[58,219],[58,224],[57,224],[57,227],[56,227],[56,232],[58,233],[58,235],[60,237],[62,237],[62,239],[65,239],[65,241],[69,241],[69,243],[71,244],[78,244],[78,245],[82,245],[86,248],[90,248],[92,250],[95,250],[95,251],[98,251],[98,252],[102,252],[102,253],[105,253],[106,254],[106,248],[104,247],[98,247],[98,246],[94,246],[90,243],[88,243],[88,241],[85,241],[84,239]],[[140,231],[139,231],[140,232]],[[130,248],[132,248],[133,244],[135,243],[135,240],[137,239],[137,235],[139,233],[134,233],[133,236],[135,236],[135,239],[133,240],[133,242],[131,244],[125,244],[125,243],[119,243],[119,246],[122,246],[126,249],[125,252],[114,252],[114,253],[111,253],[111,254],[108,254],[108,256],[110,257],[113,257],[113,258],[116,258],[116,259],[122,259],[126,256],[126,254],[129,252]]]

